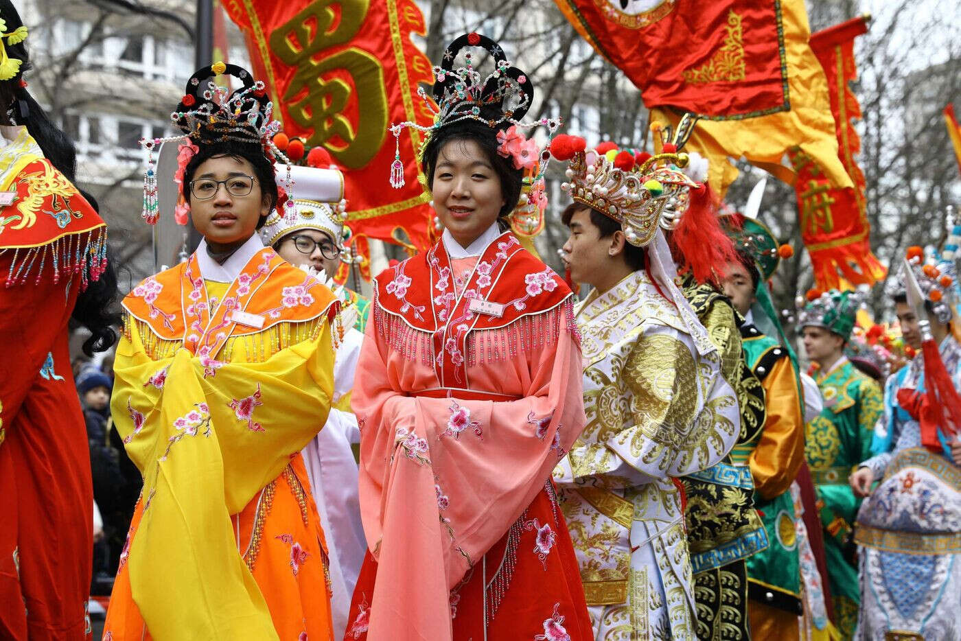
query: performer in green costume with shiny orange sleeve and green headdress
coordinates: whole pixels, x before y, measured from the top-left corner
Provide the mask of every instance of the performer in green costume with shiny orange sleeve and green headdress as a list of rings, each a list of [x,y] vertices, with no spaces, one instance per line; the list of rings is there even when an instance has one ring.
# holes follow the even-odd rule
[[[728,265],[724,289],[745,316],[744,358],[765,395],[763,423],[753,429],[743,425],[730,453],[735,465],[751,469],[754,505],[768,537],[767,549],[747,559],[751,634],[756,639],[797,639],[801,561],[789,490],[804,462],[803,404],[797,361],[765,284],[780,257],[774,235],[758,221],[735,214],[727,222],[741,260]]]

